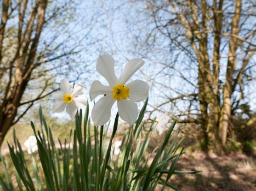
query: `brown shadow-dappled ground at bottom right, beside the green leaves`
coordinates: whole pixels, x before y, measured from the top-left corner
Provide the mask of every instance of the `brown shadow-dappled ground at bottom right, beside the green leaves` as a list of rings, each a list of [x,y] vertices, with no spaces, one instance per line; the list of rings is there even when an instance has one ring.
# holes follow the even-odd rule
[[[201,174],[174,175],[172,183],[181,190],[256,190],[256,157],[232,153],[187,153],[179,159],[177,170],[200,170]]]

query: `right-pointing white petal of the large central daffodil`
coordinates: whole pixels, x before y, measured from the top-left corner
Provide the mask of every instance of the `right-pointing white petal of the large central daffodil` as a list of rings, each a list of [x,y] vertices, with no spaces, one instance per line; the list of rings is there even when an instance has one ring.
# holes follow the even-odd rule
[[[126,85],[130,88],[129,100],[141,102],[149,97],[149,85],[142,80],[134,80]]]

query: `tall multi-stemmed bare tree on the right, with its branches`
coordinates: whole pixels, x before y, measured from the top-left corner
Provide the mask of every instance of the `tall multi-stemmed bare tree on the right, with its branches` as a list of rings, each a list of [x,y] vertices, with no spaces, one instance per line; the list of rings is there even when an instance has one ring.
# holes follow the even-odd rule
[[[203,149],[211,144],[223,151],[234,132],[232,116],[242,104],[255,104],[255,3],[143,0],[131,6],[136,11],[129,17],[138,19],[127,19],[136,47],[130,51],[154,65],[144,75],[162,98],[152,110],[198,124]],[[255,116],[248,120],[255,124]]]

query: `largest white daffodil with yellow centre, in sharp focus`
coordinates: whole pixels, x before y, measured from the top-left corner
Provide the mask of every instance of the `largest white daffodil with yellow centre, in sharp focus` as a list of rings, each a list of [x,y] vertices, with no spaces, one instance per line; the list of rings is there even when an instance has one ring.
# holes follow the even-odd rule
[[[138,117],[135,102],[141,102],[149,96],[149,85],[146,82],[134,80],[126,84],[130,77],[143,66],[142,59],[130,60],[119,79],[114,71],[114,63],[111,56],[103,55],[99,57],[96,64],[96,71],[109,82],[109,86],[104,86],[99,80],[95,80],[90,87],[90,100],[94,100],[101,94],[105,95],[96,102],[92,110],[92,120],[96,126],[102,126],[109,121],[111,108],[116,101],[122,120],[130,125],[134,124]]]

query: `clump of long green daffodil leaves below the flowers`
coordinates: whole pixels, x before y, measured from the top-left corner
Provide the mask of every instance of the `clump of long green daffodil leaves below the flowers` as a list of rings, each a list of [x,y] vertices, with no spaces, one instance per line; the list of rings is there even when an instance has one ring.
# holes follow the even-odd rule
[[[56,148],[52,130],[47,125],[39,109],[41,131],[36,132],[40,163],[32,162],[24,157],[20,142],[16,139],[14,146],[9,146],[10,157],[15,166],[15,182],[8,172],[4,158],[0,155],[5,173],[5,180],[0,177],[3,190],[155,190],[169,187],[178,190],[169,179],[174,174],[198,173],[198,171],[183,172],[175,170],[178,159],[184,153],[180,147],[183,139],[178,140],[172,134],[176,121],[169,128],[165,139],[159,148],[152,153],[147,152],[151,125],[144,130],[143,117],[147,101],[141,110],[134,127],[130,127],[123,135],[121,151],[116,157],[111,150],[113,138],[118,128],[118,114],[113,125],[112,135],[107,138],[108,126],[90,127],[89,107],[82,116],[82,111],[76,115],[75,130],[70,131],[69,140],[65,139],[60,148]],[[83,120],[82,120],[83,118]],[[99,129],[98,129],[99,128]],[[45,133],[43,133],[45,132]],[[73,134],[73,136],[72,136]],[[93,139],[94,138],[94,139]],[[152,162],[150,159],[152,159]],[[32,166],[30,166],[32,164]],[[32,169],[31,169],[32,168]],[[40,172],[42,169],[43,173]],[[33,172],[33,173],[31,173]],[[41,175],[43,174],[43,175]]]

